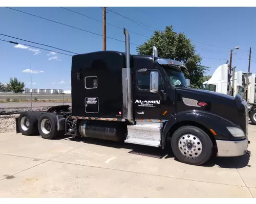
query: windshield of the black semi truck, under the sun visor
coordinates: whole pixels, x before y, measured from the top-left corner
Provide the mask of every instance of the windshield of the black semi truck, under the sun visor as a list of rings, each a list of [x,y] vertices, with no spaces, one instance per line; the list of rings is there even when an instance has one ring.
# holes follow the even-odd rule
[[[170,84],[175,87],[188,87],[187,81],[180,69],[174,69],[172,67],[163,67],[167,77],[170,81]]]

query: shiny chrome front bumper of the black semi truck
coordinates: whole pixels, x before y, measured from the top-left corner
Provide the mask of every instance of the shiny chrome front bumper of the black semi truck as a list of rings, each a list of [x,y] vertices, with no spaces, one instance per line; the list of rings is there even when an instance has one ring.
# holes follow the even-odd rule
[[[237,157],[246,154],[248,138],[240,141],[216,140],[218,157]]]

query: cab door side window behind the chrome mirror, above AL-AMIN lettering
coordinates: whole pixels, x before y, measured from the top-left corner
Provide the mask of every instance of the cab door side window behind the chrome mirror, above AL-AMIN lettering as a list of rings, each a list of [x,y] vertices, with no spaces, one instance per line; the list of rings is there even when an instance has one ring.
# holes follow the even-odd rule
[[[150,90],[150,72],[151,71],[137,72],[137,87],[139,90],[144,90],[144,91]],[[163,78],[160,73],[159,73],[158,83],[159,83],[159,90],[164,90]]]

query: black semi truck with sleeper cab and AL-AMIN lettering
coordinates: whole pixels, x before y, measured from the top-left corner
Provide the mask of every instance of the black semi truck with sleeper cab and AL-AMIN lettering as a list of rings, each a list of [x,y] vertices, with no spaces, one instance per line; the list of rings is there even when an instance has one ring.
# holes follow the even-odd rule
[[[58,134],[101,138],[165,148],[170,142],[180,161],[200,165],[217,149],[219,157],[246,154],[247,103],[236,97],[187,86],[183,63],[101,51],[72,58],[70,106],[27,111],[16,132],[53,139]],[[215,148],[216,147],[216,148]]]

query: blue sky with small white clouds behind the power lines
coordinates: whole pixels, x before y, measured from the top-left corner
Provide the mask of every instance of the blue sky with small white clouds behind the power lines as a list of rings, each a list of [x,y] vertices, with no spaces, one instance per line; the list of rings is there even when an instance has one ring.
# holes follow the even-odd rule
[[[14,8],[14,7],[13,7]],[[58,7],[20,7],[15,8],[41,17],[73,25],[84,30],[102,34],[102,23],[72,13]],[[102,20],[102,9],[99,7],[69,8],[84,15]],[[234,52],[232,65],[237,70],[248,69],[249,47],[252,47],[251,71],[256,72],[255,41],[255,8],[186,8],[186,7],[111,7],[113,11],[149,25],[144,29],[139,25],[107,11],[106,22],[117,27],[150,37],[154,29],[164,30],[166,25],[173,25],[174,31],[184,32],[196,46],[197,53],[203,57],[202,65],[209,66],[212,74],[221,64],[229,60],[231,48],[240,46]],[[0,28],[2,34],[43,43],[75,53],[88,53],[102,50],[102,37],[75,30],[64,25],[19,13],[8,8],[0,8]],[[123,31],[106,25],[106,36],[124,40]],[[143,44],[148,38],[130,33],[130,41]],[[30,44],[21,40],[0,36],[0,39]],[[30,87],[30,68],[32,60],[33,88],[70,89],[70,72],[72,57],[55,54],[33,47],[15,48],[14,44],[0,41],[0,82],[8,83],[10,78],[17,77]],[[107,50],[124,52],[123,42],[106,40]],[[56,50],[56,49],[53,49]],[[57,51],[57,50],[56,50]],[[61,52],[61,51],[59,51]],[[136,45],[131,45],[131,53],[136,54]],[[57,57],[54,59],[53,57]],[[52,58],[52,60],[49,60]],[[223,60],[221,60],[223,59]]]

